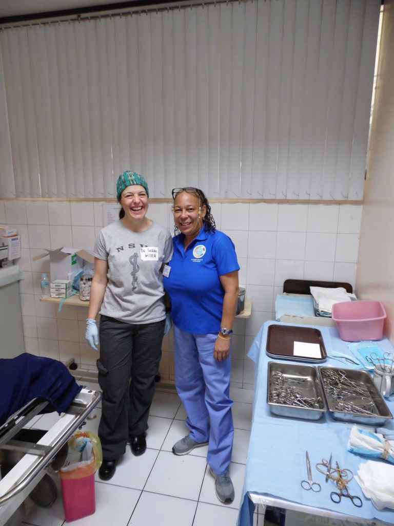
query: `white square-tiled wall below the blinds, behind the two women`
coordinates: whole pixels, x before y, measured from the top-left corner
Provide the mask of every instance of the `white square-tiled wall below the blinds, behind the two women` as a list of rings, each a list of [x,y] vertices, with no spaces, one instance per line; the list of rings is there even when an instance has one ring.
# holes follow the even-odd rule
[[[45,248],[92,250],[104,224],[102,202],[0,200],[0,221],[17,225],[22,235],[18,264],[27,352],[95,368],[98,354],[85,341],[85,307],[39,301]],[[111,203],[113,205],[113,201]],[[362,206],[282,203],[212,203],[217,228],[235,245],[240,285],[252,299],[249,319],[236,319],[232,350],[233,387],[252,388],[253,362],[247,351],[262,323],[274,319],[276,294],[287,278],[348,281],[355,284]],[[171,203],[150,203],[148,217],[173,233]],[[174,380],[172,331],[163,339],[162,378]]]

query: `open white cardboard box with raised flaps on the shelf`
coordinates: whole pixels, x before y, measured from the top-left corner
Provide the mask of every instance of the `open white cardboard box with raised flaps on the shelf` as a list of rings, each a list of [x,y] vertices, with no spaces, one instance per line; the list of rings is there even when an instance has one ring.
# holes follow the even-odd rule
[[[84,261],[94,264],[95,258],[86,250],[62,247],[55,250],[46,249],[46,252],[33,258],[33,261],[49,256],[50,280],[68,280],[75,276],[84,266]]]

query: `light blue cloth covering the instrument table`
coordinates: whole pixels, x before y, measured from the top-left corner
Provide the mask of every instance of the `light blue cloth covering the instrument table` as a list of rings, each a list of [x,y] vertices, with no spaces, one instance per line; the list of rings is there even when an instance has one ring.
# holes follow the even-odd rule
[[[306,507],[306,512],[307,507],[314,507],[394,524],[394,511],[377,510],[371,501],[364,497],[355,480],[349,483],[348,488],[351,494],[358,495],[362,499],[361,508],[356,508],[350,499],[346,498],[339,504],[332,502],[330,492],[336,491],[336,485],[331,480],[326,484],[323,474],[318,473],[315,468],[315,464],[321,462],[323,458],[328,459],[331,452],[333,460],[337,460],[341,468],[348,468],[354,473],[357,473],[360,463],[368,460],[347,451],[353,423],[334,420],[328,412],[319,420],[300,420],[275,416],[269,411],[266,403],[267,363],[271,359],[266,355],[265,346],[268,327],[273,323],[277,322],[264,323],[248,352],[248,357],[255,362],[255,395],[239,526],[253,524],[254,504],[248,498],[247,492],[300,503]],[[335,350],[351,356],[347,342],[339,338],[335,327],[316,326],[315,328],[322,332],[326,351]],[[379,346],[383,351],[393,352],[393,347],[386,337],[379,340]],[[338,367],[338,362],[328,358],[323,365]],[[394,414],[394,397],[385,401]],[[393,421],[390,420],[386,427],[394,429]],[[307,477],[306,450],[309,452],[312,464],[313,480],[322,485],[322,491],[318,493],[305,491],[300,485],[301,480]],[[286,508],[286,502],[283,503],[283,508]]]

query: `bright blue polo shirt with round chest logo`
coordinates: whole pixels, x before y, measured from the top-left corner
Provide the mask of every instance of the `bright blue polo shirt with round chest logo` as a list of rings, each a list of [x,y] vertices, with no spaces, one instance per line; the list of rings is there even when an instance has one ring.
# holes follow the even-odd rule
[[[224,297],[219,276],[240,269],[234,244],[223,232],[208,232],[204,226],[186,250],[183,240],[182,233],[172,238],[171,270],[168,277],[163,277],[171,299],[172,320],[185,332],[217,332]]]

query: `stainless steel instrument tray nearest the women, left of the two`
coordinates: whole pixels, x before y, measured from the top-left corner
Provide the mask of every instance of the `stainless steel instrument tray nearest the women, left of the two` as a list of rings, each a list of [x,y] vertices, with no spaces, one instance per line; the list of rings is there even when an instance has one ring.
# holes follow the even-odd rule
[[[278,385],[279,383],[279,385]],[[293,395],[280,396],[286,389],[292,389]],[[294,391],[299,391],[294,395]],[[279,398],[278,398],[279,397]],[[303,399],[316,399],[310,407],[299,406]],[[326,402],[320,385],[317,369],[314,366],[298,363],[268,362],[267,404],[269,410],[281,417],[318,420],[327,411]]]

